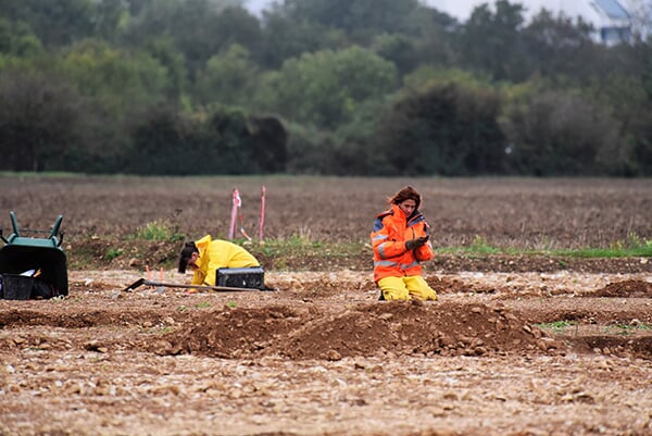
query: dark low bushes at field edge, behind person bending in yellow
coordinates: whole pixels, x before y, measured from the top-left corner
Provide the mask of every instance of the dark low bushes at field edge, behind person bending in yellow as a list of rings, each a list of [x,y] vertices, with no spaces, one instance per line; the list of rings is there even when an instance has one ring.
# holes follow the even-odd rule
[[[286,165],[287,133],[273,116],[248,119],[241,110],[216,107],[191,119],[162,107],[150,108],[131,128],[127,172],[246,174]]]

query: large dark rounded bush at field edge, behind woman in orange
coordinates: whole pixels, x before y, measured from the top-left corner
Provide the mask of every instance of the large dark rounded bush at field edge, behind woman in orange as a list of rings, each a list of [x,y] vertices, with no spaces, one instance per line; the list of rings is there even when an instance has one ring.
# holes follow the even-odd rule
[[[410,175],[496,174],[504,167],[499,96],[454,84],[408,95],[380,122],[377,172]]]

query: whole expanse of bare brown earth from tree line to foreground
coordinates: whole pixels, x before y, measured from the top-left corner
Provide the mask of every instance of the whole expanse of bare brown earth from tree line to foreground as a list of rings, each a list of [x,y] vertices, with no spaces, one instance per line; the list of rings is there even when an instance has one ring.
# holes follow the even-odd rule
[[[438,247],[650,240],[652,180],[0,180],[5,236],[10,210],[25,228],[64,215],[70,282],[63,300],[0,300],[2,435],[652,434],[652,259],[440,254],[439,301],[387,302],[364,245],[406,184]],[[258,244],[262,185],[268,245],[310,251]],[[146,266],[188,282],[181,241],[134,235],[224,236],[235,187],[274,291],[123,290]]]

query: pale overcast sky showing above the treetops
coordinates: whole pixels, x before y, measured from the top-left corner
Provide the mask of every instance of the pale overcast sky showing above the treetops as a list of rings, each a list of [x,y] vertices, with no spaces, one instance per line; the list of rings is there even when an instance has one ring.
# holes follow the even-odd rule
[[[272,0],[248,0],[247,5],[258,13],[271,2]],[[425,2],[426,4],[464,22],[468,18],[475,7],[482,3],[493,5],[494,0],[425,0]],[[512,1],[512,3],[521,3],[526,8],[526,18],[537,14],[543,7],[555,13],[563,11],[565,15],[570,17],[582,15],[585,18],[590,20],[589,15],[592,13],[589,7],[589,0],[522,0]]]

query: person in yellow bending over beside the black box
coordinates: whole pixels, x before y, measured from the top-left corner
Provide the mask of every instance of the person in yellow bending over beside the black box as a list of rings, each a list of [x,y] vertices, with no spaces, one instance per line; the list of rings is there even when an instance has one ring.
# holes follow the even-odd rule
[[[260,262],[242,247],[227,240],[214,239],[211,235],[186,242],[179,256],[179,273],[191,269],[191,285],[215,286],[216,272],[221,267],[252,267]]]

